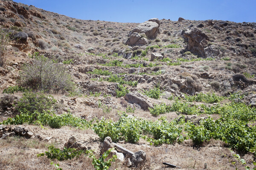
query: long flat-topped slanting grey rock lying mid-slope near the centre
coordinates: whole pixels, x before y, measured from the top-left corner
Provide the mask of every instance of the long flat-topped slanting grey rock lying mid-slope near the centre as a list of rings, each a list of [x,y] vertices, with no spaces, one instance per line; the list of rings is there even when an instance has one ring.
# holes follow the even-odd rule
[[[138,104],[144,110],[148,110],[148,108],[153,108],[153,105],[147,101],[144,95],[139,92],[130,92],[125,95],[125,100],[131,104]]]

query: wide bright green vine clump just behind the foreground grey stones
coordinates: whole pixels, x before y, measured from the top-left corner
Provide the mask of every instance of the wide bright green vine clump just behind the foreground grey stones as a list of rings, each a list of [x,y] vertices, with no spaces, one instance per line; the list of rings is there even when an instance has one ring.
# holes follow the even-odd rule
[[[169,122],[166,118],[160,118],[158,121],[148,121],[127,116],[122,114],[116,122],[106,119],[97,121],[93,125],[94,132],[99,135],[102,141],[107,136],[110,136],[114,142],[125,140],[131,143],[145,138],[155,145],[171,144],[180,138],[182,128],[176,120]]]

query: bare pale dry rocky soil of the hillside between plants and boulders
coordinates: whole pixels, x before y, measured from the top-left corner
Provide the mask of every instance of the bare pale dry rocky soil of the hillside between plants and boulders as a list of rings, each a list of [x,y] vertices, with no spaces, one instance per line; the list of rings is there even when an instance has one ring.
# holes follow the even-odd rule
[[[52,59],[58,59],[58,61],[73,59],[74,63],[67,65],[67,69],[73,75],[83,96],[68,97],[67,94],[62,94],[61,92],[52,95],[58,100],[60,106],[58,114],[70,110],[73,115],[87,120],[104,116],[116,121],[119,118],[118,111],[125,111],[128,105],[136,107],[133,113],[134,116],[148,120],[160,118],[160,116],[152,116],[148,111],[140,109],[136,104],[129,104],[124,98],[116,98],[116,83],[92,81],[91,78],[106,77],[87,74],[88,71],[93,71],[94,69],[109,70],[113,74],[124,73],[126,81],[138,81],[137,87],[128,86],[130,91],[151,89],[159,84],[166,95],[161,96],[159,100],[148,98],[148,101],[152,104],[163,102],[170,104],[172,101],[167,99],[170,95],[182,96],[183,91],[180,89],[179,84],[186,83],[186,77],[192,77],[196,86],[201,87],[197,92],[215,92],[218,95],[225,95],[228,92],[242,91],[247,94],[247,98],[244,99],[247,104],[250,104],[251,99],[256,97],[255,83],[246,84],[242,81],[235,82],[232,79],[232,75],[235,73],[247,72],[251,75],[256,75],[256,54],[250,51],[250,48],[256,48],[255,23],[234,23],[217,20],[183,20],[178,22],[162,19],[160,20],[160,33],[157,35],[157,40],[148,39],[148,44],[145,46],[129,47],[125,45],[125,39],[128,38],[128,33],[139,23],[78,20],[37,9],[33,6],[17,4],[20,8],[24,6],[30,10],[22,11],[23,17],[25,17],[23,19],[13,12],[12,6],[15,3],[12,1],[1,0],[0,4],[7,9],[7,11],[0,11],[0,25],[10,30],[20,28],[23,32],[29,34],[26,42],[20,43],[14,40],[7,47],[6,64],[0,67],[0,97],[3,96],[3,89],[16,85],[18,72],[24,63],[32,61],[28,55],[34,52],[39,52]],[[197,26],[201,23],[204,26],[198,28]],[[114,52],[125,53],[126,49],[132,49],[132,51],[137,48],[144,50],[146,46],[164,46],[173,43],[181,47],[149,50],[145,58],[150,60],[151,52],[158,52],[173,61],[177,58],[189,59],[192,56],[184,55],[187,42],[184,41],[182,32],[187,30],[191,24],[202,30],[209,37],[209,46],[213,44],[214,48],[218,50],[219,55],[212,56],[215,61],[182,62],[180,66],[168,66],[165,62],[152,62],[161,64],[161,66],[140,68],[140,72],[148,74],[164,70],[165,72],[160,75],[137,75],[132,74],[134,72],[137,73],[137,68],[99,65],[116,59],[123,61],[123,64],[149,64],[150,61],[116,58],[111,54]],[[14,28],[12,26],[17,27]],[[156,42],[158,39],[160,42]],[[90,51],[90,47],[93,50]],[[90,54],[89,51],[95,55]],[[108,54],[109,56],[106,56],[108,58],[103,58],[99,55],[100,53]],[[231,60],[221,60],[224,57],[229,57]],[[231,63],[230,68],[227,68],[228,63]],[[205,75],[208,77],[205,77]],[[250,80],[256,81],[255,78]],[[210,85],[213,81],[219,83],[220,87],[218,89]],[[90,96],[90,92],[102,92],[102,95],[93,97]],[[104,97],[103,94],[110,96]],[[22,96],[21,93],[15,93],[14,95],[17,98]],[[112,108],[110,113],[104,113],[101,108],[98,108],[99,99],[102,104]],[[8,112],[1,112],[0,122],[12,116],[14,116],[12,109]],[[178,117],[175,112],[166,113],[164,116],[168,120]],[[218,118],[218,115],[211,116]],[[99,155],[99,150],[102,147],[102,141],[99,140],[98,135],[93,130],[77,130],[70,127],[52,129],[50,127],[42,128],[26,124],[19,126],[27,127],[34,135],[29,139],[23,137],[0,139],[0,170],[53,170],[54,167],[49,164],[50,160],[45,157],[37,158],[37,154],[47,151],[47,144],[55,144],[59,148],[64,147],[71,135],[75,136],[78,141],[81,141],[90,149],[95,150],[97,155]],[[37,138],[36,135],[41,135],[41,138]],[[200,148],[193,148],[191,140],[184,141],[182,144],[163,144],[159,147],[150,146],[144,140],[140,140],[137,144],[129,144],[122,141],[119,144],[133,152],[144,150],[147,154],[144,169],[148,170],[169,169],[162,164],[163,162],[175,164],[184,170],[203,169],[204,163],[207,163],[209,170],[231,170],[235,169],[232,162],[236,162],[237,167],[243,169],[233,157],[230,149],[221,141],[211,140]],[[245,154],[242,155],[242,158],[245,159],[249,166],[253,166],[252,162],[255,159],[253,155]],[[71,161],[55,161],[55,163],[59,163],[63,170],[92,170],[93,166],[90,161],[89,158],[81,156]],[[129,169],[125,163],[119,161],[113,163],[111,169],[115,168]]]

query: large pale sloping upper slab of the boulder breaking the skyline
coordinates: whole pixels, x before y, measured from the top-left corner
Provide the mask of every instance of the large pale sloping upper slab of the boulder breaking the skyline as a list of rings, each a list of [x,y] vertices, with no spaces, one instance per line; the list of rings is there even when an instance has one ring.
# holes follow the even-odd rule
[[[157,18],[150,19],[141,23],[136,28],[134,28],[128,36],[131,36],[134,32],[145,33],[148,38],[157,37],[157,33],[159,33],[160,22]]]

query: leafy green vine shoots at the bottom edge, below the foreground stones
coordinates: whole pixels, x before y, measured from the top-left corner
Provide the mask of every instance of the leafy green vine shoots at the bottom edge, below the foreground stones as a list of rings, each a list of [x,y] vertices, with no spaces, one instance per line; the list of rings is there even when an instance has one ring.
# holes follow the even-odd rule
[[[109,154],[113,152],[114,148],[107,150],[102,156],[97,159],[96,156],[93,154],[92,150],[87,150],[86,153],[89,155],[90,158],[93,159],[93,166],[96,170],[108,170],[111,166],[111,162],[116,161],[117,156],[113,155],[112,158],[108,158]],[[108,160],[107,160],[108,158]]]

